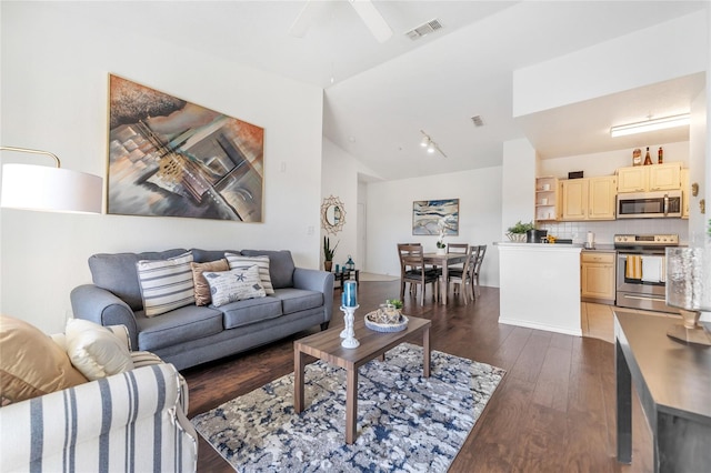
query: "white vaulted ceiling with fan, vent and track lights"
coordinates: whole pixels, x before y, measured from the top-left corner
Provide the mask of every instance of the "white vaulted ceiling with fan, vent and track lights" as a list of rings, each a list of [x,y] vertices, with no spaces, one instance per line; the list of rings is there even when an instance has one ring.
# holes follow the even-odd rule
[[[543,158],[634,145],[612,142],[599,130],[620,117],[642,120],[688,110],[704,87],[703,74],[514,119],[513,71],[707,3],[373,1],[393,31],[384,42],[341,0],[101,1],[57,8],[323,88],[324,137],[375,177],[398,179],[498,165],[502,143],[523,137]],[[289,32],[297,18],[301,38]],[[415,40],[405,34],[432,20],[442,28]],[[483,127],[473,124],[474,115]],[[421,130],[447,158],[423,152]],[[685,130],[652,142],[683,140]]]

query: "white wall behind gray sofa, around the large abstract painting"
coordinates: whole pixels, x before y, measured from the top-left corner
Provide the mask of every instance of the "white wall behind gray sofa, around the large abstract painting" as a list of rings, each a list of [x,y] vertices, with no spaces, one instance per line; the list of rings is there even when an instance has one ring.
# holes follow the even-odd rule
[[[106,175],[111,72],[263,127],[266,167],[263,223],[3,210],[3,314],[63,330],[69,293],[90,282],[87,258],[97,252],[290,249],[297,264],[319,266],[319,232],[308,229],[320,227],[320,89],[82,21],[61,2],[1,9],[2,144],[48,150],[67,169]]]

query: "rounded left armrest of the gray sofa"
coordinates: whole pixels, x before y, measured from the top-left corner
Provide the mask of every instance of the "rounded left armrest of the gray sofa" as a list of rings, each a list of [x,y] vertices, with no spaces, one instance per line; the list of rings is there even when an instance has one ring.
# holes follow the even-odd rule
[[[74,288],[69,298],[77,319],[89,320],[103,326],[124,325],[129,331],[131,348],[138,350],[138,324],[129,304],[112,292],[93,284]]]

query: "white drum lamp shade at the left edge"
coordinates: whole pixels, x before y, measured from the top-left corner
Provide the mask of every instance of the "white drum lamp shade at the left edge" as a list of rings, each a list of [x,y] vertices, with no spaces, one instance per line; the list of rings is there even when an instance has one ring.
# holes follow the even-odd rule
[[[101,213],[102,179],[83,172],[33,164],[2,167],[3,208],[48,212]]]

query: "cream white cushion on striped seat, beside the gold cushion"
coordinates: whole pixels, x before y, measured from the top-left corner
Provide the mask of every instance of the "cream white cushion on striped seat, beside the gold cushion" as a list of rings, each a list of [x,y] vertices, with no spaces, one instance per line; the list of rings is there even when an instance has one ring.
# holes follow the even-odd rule
[[[126,339],[83,319],[69,319],[64,330],[67,354],[88,380],[99,380],[133,369]]]

